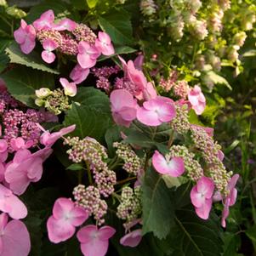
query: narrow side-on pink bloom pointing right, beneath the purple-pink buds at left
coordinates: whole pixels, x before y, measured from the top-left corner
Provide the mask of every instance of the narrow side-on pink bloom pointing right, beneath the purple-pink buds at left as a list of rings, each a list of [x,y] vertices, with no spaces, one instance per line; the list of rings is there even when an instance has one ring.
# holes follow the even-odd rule
[[[73,132],[76,128],[76,125],[73,124],[73,125],[70,125],[66,128],[60,129],[59,132],[55,132],[55,133],[50,134],[40,124],[37,124],[37,126],[38,126],[38,128],[41,128],[43,130],[43,134],[40,137],[40,142],[41,142],[41,144],[43,144],[47,147],[51,147],[52,145],[54,145],[54,143],[58,139],[60,139],[65,134],[69,134],[69,133]]]

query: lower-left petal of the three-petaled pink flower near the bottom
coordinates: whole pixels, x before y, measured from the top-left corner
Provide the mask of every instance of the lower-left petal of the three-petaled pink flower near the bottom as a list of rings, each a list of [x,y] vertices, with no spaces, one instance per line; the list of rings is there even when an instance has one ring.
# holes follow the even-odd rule
[[[47,221],[47,230],[49,241],[58,243],[71,238],[76,228],[65,219],[55,219],[54,216],[50,216]]]

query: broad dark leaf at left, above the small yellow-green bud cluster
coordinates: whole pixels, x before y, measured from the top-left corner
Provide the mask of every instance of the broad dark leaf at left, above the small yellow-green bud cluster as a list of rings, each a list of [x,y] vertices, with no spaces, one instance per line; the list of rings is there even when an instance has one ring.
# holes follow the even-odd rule
[[[9,93],[16,100],[35,107],[35,90],[42,87],[54,88],[54,76],[43,71],[36,71],[25,66],[16,67],[2,75]]]

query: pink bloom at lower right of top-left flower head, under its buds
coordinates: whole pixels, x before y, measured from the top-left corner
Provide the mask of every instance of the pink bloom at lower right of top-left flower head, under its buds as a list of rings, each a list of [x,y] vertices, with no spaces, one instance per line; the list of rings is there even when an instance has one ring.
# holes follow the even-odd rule
[[[94,45],[91,46],[84,41],[78,43],[77,61],[83,69],[93,67],[99,56],[100,52]]]

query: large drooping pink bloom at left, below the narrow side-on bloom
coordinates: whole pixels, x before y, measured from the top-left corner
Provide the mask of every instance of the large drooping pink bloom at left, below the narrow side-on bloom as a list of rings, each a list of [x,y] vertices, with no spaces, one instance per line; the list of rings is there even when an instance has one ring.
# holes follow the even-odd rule
[[[31,182],[37,182],[43,174],[43,161],[52,153],[52,149],[45,148],[31,154],[31,151],[22,149],[16,151],[14,159],[9,162],[4,178],[9,188],[16,195],[26,191]]]

